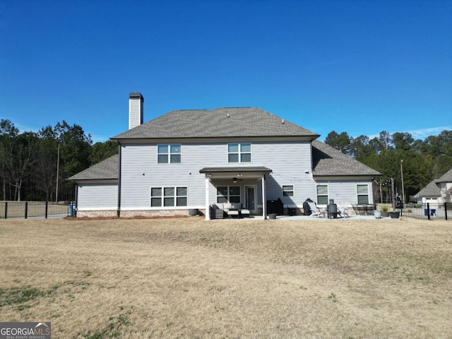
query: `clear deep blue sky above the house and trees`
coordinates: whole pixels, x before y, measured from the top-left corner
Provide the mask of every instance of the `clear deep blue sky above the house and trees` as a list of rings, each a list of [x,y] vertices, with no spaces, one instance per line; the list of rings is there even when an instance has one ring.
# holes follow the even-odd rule
[[[452,129],[452,1],[0,0],[0,119],[93,141],[173,109],[261,107],[321,134]]]

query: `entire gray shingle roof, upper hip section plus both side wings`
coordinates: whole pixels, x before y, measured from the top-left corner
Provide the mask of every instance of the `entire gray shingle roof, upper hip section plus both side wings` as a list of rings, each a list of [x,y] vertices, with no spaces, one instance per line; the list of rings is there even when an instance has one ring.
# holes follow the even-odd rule
[[[229,114],[229,117],[228,117]],[[255,107],[172,111],[112,139],[127,138],[222,138],[239,136],[304,136],[316,139],[308,129],[284,121]],[[312,141],[314,176],[379,176],[374,169],[338,150]],[[118,179],[119,155],[70,177],[69,181]]]

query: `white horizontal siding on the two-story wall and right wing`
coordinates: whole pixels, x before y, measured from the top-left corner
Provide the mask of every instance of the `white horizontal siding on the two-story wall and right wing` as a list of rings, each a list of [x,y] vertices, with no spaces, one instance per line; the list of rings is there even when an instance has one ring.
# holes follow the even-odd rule
[[[181,143],[184,157],[177,166],[157,164],[157,145],[162,143],[121,143],[121,210],[146,210],[150,207],[150,187],[187,187],[186,208],[205,208],[206,175],[199,173],[203,167],[235,166],[226,156],[225,141]],[[271,156],[269,156],[271,155]],[[238,165],[238,164],[237,164]],[[267,200],[281,198],[285,206],[302,206],[307,198],[316,201],[317,184],[328,185],[328,198],[335,203],[357,203],[357,184],[369,180],[343,179],[313,180],[311,174],[311,145],[309,141],[253,141],[252,162],[239,166],[265,166],[273,172],[266,178]],[[309,170],[308,173],[306,171]],[[244,179],[237,184],[230,179],[215,179],[208,183],[209,201],[217,201],[218,186],[256,185],[256,179]],[[294,196],[283,196],[282,187],[293,186]],[[262,206],[261,181],[258,182],[258,206]],[[117,199],[117,194],[115,194]],[[241,197],[244,201],[244,196]],[[369,201],[372,201],[369,190]],[[174,206],[173,208],[177,208]],[[182,208],[182,207],[181,207]]]

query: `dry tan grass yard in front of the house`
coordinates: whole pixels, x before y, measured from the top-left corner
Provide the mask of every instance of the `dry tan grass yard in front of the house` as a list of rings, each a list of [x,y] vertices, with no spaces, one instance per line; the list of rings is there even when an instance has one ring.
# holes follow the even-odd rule
[[[0,321],[52,338],[451,338],[452,223],[0,220]]]

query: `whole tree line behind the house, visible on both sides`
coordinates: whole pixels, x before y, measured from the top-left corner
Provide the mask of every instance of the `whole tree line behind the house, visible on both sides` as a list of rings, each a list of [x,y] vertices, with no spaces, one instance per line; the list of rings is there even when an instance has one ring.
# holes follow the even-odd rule
[[[390,182],[405,200],[452,168],[452,131],[415,140],[410,133],[382,131],[378,137],[352,138],[331,131],[325,143],[376,169],[376,201],[388,201]],[[95,143],[77,124],[66,121],[40,131],[19,133],[13,122],[0,120],[0,179],[4,201],[72,201],[74,185],[65,179],[118,153],[114,141]],[[58,186],[57,186],[58,185]]]

